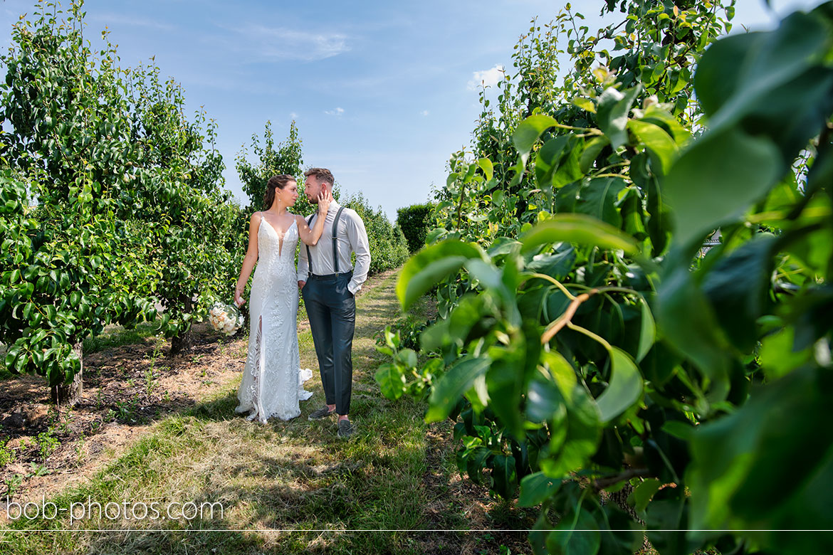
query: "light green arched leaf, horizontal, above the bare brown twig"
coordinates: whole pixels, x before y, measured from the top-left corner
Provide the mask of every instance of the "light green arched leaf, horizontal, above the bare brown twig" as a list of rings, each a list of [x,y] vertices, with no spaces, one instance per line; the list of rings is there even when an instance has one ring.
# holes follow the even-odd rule
[[[636,241],[612,225],[583,214],[556,214],[523,235],[521,253],[562,241],[595,245],[601,249],[621,249],[629,255],[638,252]]]

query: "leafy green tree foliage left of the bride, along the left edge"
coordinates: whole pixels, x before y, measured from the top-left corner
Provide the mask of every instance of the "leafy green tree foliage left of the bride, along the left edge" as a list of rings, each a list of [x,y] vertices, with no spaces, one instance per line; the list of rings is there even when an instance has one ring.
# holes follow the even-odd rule
[[[81,368],[72,345],[154,319],[157,300],[176,344],[227,289],[244,240],[216,125],[188,121],[157,67],[92,52],[83,15],[39,2],[2,57],[0,342],[7,369],[52,385]]]

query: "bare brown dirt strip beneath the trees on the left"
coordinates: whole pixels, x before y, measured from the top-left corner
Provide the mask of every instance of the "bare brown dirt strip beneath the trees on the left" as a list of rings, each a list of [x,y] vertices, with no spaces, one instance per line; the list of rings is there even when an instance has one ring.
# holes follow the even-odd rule
[[[373,275],[359,295],[394,270]],[[299,323],[299,331],[309,325]],[[194,325],[192,350],[168,356],[170,342],[147,338],[86,354],[82,401],[59,411],[41,376],[24,375],[0,387],[0,499],[40,501],[82,483],[169,414],[212,399],[238,379],[247,334],[227,338],[207,323]],[[4,455],[4,453],[6,453]],[[3,457],[12,460],[2,465]],[[0,503],[0,522],[6,520]]]

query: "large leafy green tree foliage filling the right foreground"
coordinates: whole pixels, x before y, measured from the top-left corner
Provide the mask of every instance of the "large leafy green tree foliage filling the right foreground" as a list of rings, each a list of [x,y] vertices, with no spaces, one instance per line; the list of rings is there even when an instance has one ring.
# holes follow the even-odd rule
[[[833,3],[705,53],[720,4],[617,7],[596,37],[567,14],[521,39],[397,284],[406,309],[439,284],[441,318],[420,353],[389,334],[377,381],[455,420],[461,473],[540,506],[536,553],[634,553],[643,529],[662,555],[826,553],[743,530],[833,525],[811,424],[831,388]],[[638,520],[601,501],[626,483]]]

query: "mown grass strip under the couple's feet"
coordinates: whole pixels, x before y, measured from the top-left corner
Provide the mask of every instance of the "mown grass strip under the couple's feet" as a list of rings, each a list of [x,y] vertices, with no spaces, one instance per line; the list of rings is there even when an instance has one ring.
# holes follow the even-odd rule
[[[0,551],[202,553],[217,548],[216,553],[251,553],[252,548],[280,545],[281,553],[307,553],[311,548],[327,553],[419,553],[419,544],[407,533],[340,532],[426,528],[424,409],[411,400],[383,399],[373,380],[380,364],[373,332],[398,315],[395,280],[395,275],[389,276],[357,300],[351,416],[358,432],[351,441],[337,438],[335,419],[307,421],[307,414],[323,402],[317,379],[307,384],[315,394],[302,404],[301,417],[265,426],[233,415],[234,384],[216,399],[154,425],[150,434],[89,482],[53,498],[57,509],[64,509],[59,518],[13,521],[10,528],[15,530],[50,532],[0,532]],[[302,364],[317,367],[309,330],[299,343]],[[164,513],[172,502],[195,503],[194,508],[221,503],[222,515],[188,520],[164,514],[158,519],[131,518],[129,513],[137,507],[142,513],[138,503],[157,503]],[[99,518],[95,503],[118,504],[121,518]],[[82,508],[87,514],[70,530],[71,507],[76,514]],[[115,505],[110,507],[115,513]],[[136,531],[92,532],[99,528]],[[175,531],[154,531],[162,528]],[[332,532],[185,533],[212,528]]]

